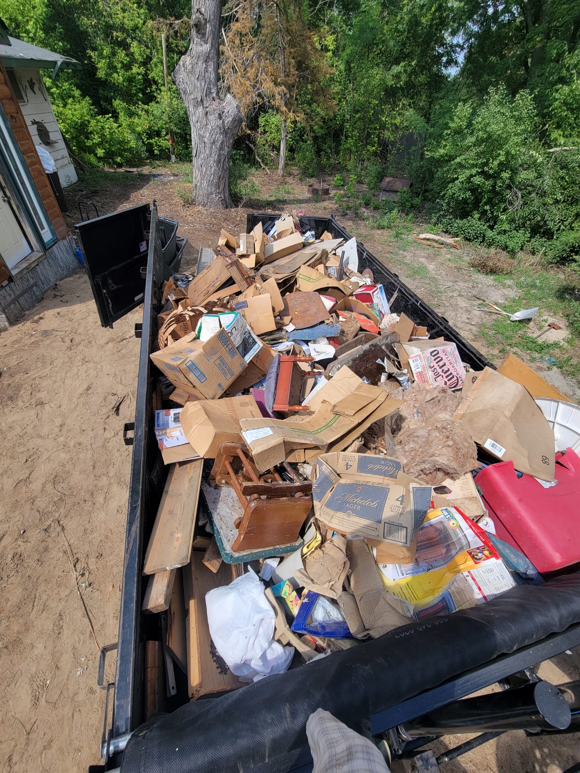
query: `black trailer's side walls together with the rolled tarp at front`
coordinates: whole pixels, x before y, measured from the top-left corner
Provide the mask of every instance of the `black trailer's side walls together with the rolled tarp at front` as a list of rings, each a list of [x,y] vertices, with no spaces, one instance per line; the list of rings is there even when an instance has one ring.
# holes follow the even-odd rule
[[[254,213],[247,230],[275,217]],[[350,238],[330,218],[302,218],[305,230],[328,230]],[[139,357],[135,422],[125,425],[133,444],[125,565],[121,593],[110,729],[104,733],[104,768],[122,771],[291,771],[312,769],[305,721],[323,707],[351,727],[369,724],[378,734],[421,717],[484,686],[551,658],[580,643],[580,573],[544,585],[514,587],[478,608],[428,618],[307,663],[285,674],[216,698],[189,703],[186,685],[177,683],[168,712],[142,724],[143,645],[161,639],[160,615],[142,615],[142,560],[152,530],[167,468],[153,431],[155,317],[161,308],[163,257],[156,207],[151,213],[147,274]],[[394,312],[407,312],[431,335],[455,342],[464,362],[475,369],[490,363],[462,339],[449,322],[407,288],[377,258],[358,245],[359,267],[370,267],[387,297],[398,290]],[[132,433],[132,437],[131,437]],[[107,725],[105,725],[107,727]],[[417,744],[415,744],[417,745]],[[123,751],[125,750],[125,751]]]

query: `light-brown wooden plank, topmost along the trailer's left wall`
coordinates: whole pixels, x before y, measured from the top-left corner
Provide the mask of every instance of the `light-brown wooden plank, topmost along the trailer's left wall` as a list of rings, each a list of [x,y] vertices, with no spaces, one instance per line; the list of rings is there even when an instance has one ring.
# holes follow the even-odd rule
[[[169,469],[153,525],[143,574],[176,569],[189,562],[203,459],[180,461]]]

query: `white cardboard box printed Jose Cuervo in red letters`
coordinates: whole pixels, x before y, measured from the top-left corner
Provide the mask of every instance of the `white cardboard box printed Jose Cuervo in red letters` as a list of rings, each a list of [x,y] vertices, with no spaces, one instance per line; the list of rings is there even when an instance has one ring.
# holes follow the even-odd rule
[[[402,346],[408,354],[409,367],[415,381],[425,389],[431,389],[433,386],[459,389],[463,386],[466,369],[454,343],[413,341]]]

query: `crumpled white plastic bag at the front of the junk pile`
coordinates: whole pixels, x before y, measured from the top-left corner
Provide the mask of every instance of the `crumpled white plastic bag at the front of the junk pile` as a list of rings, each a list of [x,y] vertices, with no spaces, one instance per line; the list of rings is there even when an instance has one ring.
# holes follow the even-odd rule
[[[242,682],[285,672],[293,647],[274,641],[274,610],[251,569],[206,593],[207,621],[217,652]]]

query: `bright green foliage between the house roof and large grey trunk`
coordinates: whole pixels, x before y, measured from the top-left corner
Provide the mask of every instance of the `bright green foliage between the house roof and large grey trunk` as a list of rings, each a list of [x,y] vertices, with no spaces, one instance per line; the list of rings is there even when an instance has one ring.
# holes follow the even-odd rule
[[[172,15],[190,4],[172,0]],[[82,70],[46,77],[56,119],[89,165],[169,158],[169,124],[178,155],[189,153],[189,122],[176,87],[165,97],[161,33],[164,0],[0,0],[12,36],[73,56]],[[169,27],[171,71],[188,45],[188,25]],[[45,76],[49,71],[44,70]]]

